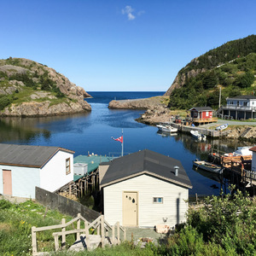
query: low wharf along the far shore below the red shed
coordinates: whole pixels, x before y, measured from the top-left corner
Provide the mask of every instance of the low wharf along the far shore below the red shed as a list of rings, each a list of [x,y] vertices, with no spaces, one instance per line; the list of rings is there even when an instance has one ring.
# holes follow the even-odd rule
[[[172,127],[177,128],[178,131],[190,133],[190,131],[198,131],[207,137],[226,137],[229,134],[229,131],[215,131],[212,129],[201,128],[199,126],[191,125],[181,125],[176,123],[171,123]]]

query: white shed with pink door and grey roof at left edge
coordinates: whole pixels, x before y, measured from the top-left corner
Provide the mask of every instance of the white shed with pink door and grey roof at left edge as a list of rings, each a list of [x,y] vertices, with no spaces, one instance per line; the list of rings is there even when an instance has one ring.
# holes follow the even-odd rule
[[[73,181],[73,154],[65,148],[0,143],[0,194],[35,198]]]

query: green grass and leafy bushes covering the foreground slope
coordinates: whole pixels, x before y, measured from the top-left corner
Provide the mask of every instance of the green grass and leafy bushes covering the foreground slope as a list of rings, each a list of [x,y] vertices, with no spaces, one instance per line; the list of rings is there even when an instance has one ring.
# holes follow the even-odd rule
[[[187,224],[163,236],[159,246],[148,244],[142,249],[127,241],[93,252],[56,255],[255,255],[256,202],[240,191],[231,194],[207,197],[196,208],[189,208]],[[31,255],[32,226],[61,224],[61,218],[71,219],[33,201],[11,204],[0,200],[0,255]],[[53,231],[37,234],[39,251],[54,250]],[[73,241],[73,235],[67,236],[67,246]]]

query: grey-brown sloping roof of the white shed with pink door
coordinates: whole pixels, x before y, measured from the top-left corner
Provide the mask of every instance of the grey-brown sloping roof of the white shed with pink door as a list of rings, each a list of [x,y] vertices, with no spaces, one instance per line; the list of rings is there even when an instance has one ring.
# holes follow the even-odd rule
[[[59,150],[65,148],[0,143],[0,165],[42,167]]]

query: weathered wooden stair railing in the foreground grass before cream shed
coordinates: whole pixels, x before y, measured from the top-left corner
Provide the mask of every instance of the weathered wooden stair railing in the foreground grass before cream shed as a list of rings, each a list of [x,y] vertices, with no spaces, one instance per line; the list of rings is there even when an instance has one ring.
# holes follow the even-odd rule
[[[84,229],[81,229],[81,221],[84,221]],[[67,226],[74,224],[77,222],[77,229],[74,230],[66,230]],[[59,244],[59,236],[61,236],[61,249],[66,248],[66,236],[71,234],[77,234],[77,240],[80,238],[80,234],[85,234],[85,242],[87,247],[90,247],[90,229],[94,228],[94,230],[97,231],[97,235],[101,236],[102,241],[102,247],[105,247],[105,236],[108,235],[108,231],[112,230],[112,244],[116,245],[120,242],[120,230],[124,232],[124,241],[126,240],[126,232],[125,229],[123,229],[119,222],[111,226],[108,224],[106,220],[104,220],[104,215],[99,216],[94,220],[92,223],[88,222],[84,217],[81,216],[81,214],[78,214],[78,217],[73,218],[71,221],[66,223],[66,219],[62,218],[61,224],[56,224],[52,226],[46,226],[46,227],[32,227],[32,255],[38,255],[38,245],[37,245],[37,232],[39,231],[45,231],[45,230],[55,230],[55,229],[61,229],[59,232],[54,232],[52,235],[55,239],[55,251],[58,251],[60,249]],[[117,239],[115,239],[115,229],[117,229]]]

